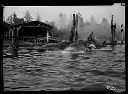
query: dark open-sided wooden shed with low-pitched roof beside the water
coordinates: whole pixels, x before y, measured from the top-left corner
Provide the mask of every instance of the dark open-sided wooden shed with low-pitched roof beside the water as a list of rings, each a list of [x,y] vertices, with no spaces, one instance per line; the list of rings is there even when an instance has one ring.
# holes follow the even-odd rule
[[[52,26],[40,21],[31,21],[28,23],[10,26],[11,35],[16,36],[18,40],[36,40],[39,37],[49,42],[49,36],[52,37]],[[15,34],[13,34],[15,33]]]

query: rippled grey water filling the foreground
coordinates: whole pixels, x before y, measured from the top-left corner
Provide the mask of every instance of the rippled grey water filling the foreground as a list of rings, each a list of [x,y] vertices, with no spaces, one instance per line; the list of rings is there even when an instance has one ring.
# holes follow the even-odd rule
[[[125,91],[125,46],[115,51],[62,53],[19,50],[3,58],[5,91]]]

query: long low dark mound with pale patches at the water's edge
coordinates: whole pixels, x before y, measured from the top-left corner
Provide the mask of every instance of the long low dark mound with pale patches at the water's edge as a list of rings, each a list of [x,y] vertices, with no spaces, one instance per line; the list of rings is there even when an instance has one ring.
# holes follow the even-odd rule
[[[59,42],[59,43],[50,43],[43,45],[39,48],[45,49],[47,51],[62,51],[62,53],[72,53],[79,51],[86,51],[88,49],[95,49],[101,47],[101,44],[96,44],[88,40],[79,40],[76,42]]]

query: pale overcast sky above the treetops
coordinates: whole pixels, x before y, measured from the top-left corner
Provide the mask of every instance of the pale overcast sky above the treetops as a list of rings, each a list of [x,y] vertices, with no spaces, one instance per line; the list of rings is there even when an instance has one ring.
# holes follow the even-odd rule
[[[79,12],[84,21],[90,21],[91,16],[94,16],[97,23],[100,23],[103,17],[110,23],[113,14],[116,23],[125,24],[125,6],[121,6],[120,3],[115,3],[112,6],[4,6],[3,17],[6,19],[15,12],[18,18],[22,18],[27,10],[31,13],[33,20],[39,14],[42,22],[46,20],[57,22],[59,13],[66,14],[69,19],[70,15]]]

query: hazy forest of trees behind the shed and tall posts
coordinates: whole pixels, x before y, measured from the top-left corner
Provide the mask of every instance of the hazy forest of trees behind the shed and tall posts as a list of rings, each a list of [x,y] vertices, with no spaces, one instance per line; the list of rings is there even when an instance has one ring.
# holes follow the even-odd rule
[[[90,17],[90,21],[84,21],[82,15],[78,14],[78,39],[85,40],[90,35],[91,32],[94,32],[95,36],[99,40],[110,40],[111,30],[110,24],[106,18],[102,18],[101,23],[97,23],[94,16]],[[36,17],[36,21],[41,21],[41,17],[39,14]],[[3,18],[3,22],[9,25],[21,24],[24,22],[33,21],[33,17],[29,10],[24,13],[23,18],[18,18],[17,14],[14,12],[6,19]],[[42,21],[41,21],[42,22]],[[71,27],[73,25],[73,17],[70,15],[70,18],[67,19],[66,15],[63,13],[58,14],[58,20],[53,20],[51,22],[45,21],[43,23],[49,24],[53,26],[53,37],[61,38],[61,40],[68,40],[71,32]],[[125,31],[125,28],[123,28]],[[121,40],[121,29],[120,25],[116,24],[116,39]],[[124,32],[124,40],[125,40],[125,32]]]

